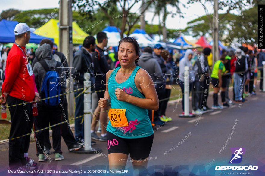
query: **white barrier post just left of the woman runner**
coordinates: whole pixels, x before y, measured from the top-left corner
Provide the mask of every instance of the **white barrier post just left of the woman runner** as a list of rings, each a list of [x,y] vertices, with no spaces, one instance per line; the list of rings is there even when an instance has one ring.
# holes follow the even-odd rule
[[[89,81],[90,73],[84,74],[84,88],[88,88],[84,93],[84,142],[85,144],[85,151],[91,150],[91,81]]]

